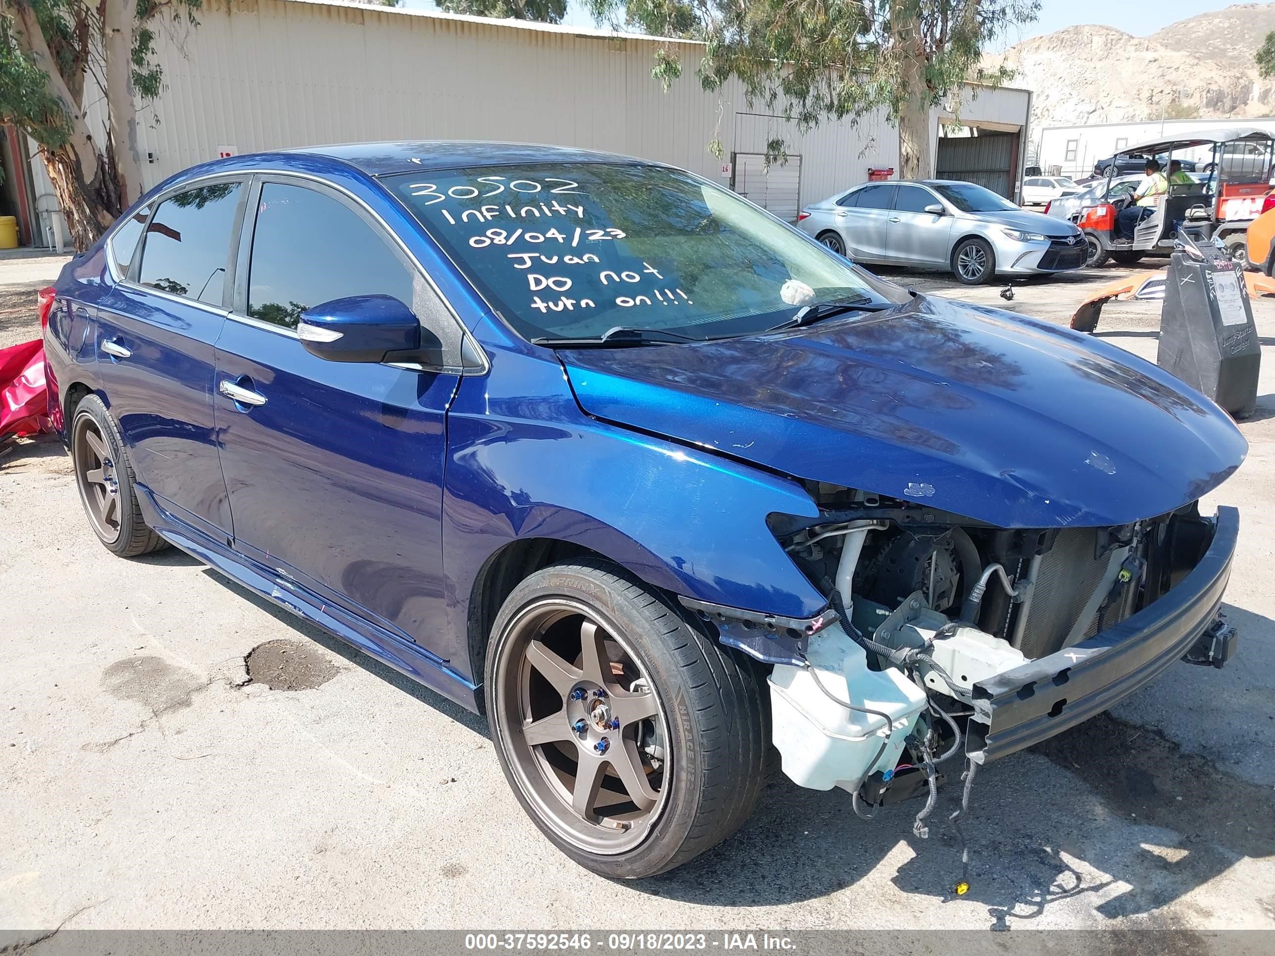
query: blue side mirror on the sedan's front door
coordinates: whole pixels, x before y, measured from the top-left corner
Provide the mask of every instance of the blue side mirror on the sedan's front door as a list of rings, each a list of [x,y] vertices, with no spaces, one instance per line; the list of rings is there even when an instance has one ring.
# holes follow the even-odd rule
[[[393,296],[351,296],[301,314],[297,338],[329,362],[441,365],[441,343]]]

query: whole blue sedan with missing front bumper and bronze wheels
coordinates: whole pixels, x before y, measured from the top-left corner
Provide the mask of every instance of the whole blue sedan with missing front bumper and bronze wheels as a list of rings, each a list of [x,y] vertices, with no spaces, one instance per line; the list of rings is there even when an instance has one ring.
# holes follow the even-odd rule
[[[1234,646],[1235,512],[1197,501],[1246,445],[1211,402],[681,170],[235,157],[46,292],[101,543],[176,546],[486,711],[607,876],[728,836],[771,746],[871,816]]]

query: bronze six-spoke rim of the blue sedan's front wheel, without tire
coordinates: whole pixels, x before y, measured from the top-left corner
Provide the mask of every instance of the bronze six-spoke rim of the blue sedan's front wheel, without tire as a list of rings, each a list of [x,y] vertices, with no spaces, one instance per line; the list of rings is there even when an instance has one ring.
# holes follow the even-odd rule
[[[640,845],[673,769],[664,707],[620,628],[580,602],[536,600],[505,628],[493,677],[497,744],[541,820],[586,853]]]

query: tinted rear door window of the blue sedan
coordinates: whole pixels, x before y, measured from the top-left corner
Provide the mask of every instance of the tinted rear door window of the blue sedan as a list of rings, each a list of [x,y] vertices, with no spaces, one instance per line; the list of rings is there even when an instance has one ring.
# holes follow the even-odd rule
[[[241,185],[199,186],[161,203],[147,226],[139,282],[221,306]]]

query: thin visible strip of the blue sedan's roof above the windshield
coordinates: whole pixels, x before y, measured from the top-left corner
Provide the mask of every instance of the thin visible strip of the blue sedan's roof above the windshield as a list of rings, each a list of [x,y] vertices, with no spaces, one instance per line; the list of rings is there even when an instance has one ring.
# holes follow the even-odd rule
[[[398,140],[384,143],[339,143],[283,150],[340,159],[368,176],[389,176],[419,170],[451,170],[465,166],[506,166],[518,163],[643,163],[645,159],[574,147],[536,143],[488,143],[482,140]]]

